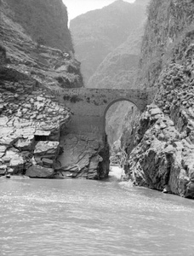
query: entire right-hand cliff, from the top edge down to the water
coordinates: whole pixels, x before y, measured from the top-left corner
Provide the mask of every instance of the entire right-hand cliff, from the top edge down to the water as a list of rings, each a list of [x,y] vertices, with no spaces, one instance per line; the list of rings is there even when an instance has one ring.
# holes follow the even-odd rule
[[[152,0],[138,83],[157,95],[129,148],[135,185],[194,198],[194,2]]]

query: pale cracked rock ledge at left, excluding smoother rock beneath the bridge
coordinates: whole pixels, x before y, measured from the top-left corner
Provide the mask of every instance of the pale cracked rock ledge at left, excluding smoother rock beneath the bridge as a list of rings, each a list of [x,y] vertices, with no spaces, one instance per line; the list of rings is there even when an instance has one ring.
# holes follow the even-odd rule
[[[27,78],[3,81],[0,102],[0,174],[52,177],[70,111]],[[44,172],[31,174],[31,166]]]

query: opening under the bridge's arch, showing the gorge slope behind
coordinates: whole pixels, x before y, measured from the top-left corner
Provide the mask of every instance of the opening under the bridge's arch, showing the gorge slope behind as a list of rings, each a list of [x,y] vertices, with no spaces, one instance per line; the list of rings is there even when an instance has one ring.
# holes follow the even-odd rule
[[[123,167],[128,145],[131,143],[134,119],[140,110],[128,99],[111,102],[104,112],[104,131],[110,146],[110,163]]]

